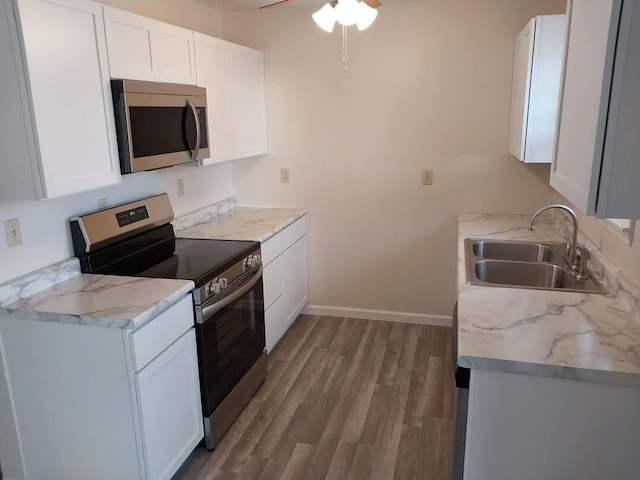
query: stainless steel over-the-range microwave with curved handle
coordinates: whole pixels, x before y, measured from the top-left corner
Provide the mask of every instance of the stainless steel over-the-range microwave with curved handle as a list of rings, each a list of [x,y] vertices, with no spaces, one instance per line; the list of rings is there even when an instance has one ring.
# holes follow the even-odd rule
[[[111,80],[121,173],[209,158],[206,89]]]

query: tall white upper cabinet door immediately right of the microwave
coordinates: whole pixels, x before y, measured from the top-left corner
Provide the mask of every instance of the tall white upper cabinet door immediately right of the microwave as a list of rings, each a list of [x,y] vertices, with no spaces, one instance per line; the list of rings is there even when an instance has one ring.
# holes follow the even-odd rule
[[[231,158],[225,101],[225,45],[227,42],[197,32],[194,33],[194,42],[197,85],[207,89],[207,123],[211,158],[203,160],[202,164],[210,165]]]

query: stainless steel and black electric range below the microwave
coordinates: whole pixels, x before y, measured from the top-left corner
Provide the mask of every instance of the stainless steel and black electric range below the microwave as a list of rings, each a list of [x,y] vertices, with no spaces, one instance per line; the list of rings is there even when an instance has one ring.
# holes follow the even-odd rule
[[[260,243],[176,238],[166,194],[70,219],[85,273],[192,280],[206,447],[267,373]]]

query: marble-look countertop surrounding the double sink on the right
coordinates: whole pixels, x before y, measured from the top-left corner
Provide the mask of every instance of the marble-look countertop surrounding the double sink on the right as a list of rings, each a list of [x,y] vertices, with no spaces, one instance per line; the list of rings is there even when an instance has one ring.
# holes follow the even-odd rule
[[[529,220],[528,215],[458,217],[458,363],[640,387],[640,290],[588,238],[580,235],[578,243],[590,250],[606,295],[466,283],[465,238],[565,238],[562,220],[540,222],[535,232],[528,230]]]

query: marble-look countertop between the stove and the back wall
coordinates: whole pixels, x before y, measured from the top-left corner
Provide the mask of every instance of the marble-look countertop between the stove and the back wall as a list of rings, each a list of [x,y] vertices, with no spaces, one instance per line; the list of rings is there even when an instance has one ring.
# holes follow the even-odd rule
[[[307,213],[301,208],[244,207],[220,210],[213,205],[173,222],[176,236],[265,242]]]

